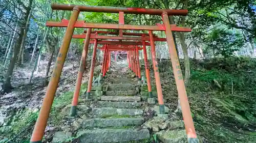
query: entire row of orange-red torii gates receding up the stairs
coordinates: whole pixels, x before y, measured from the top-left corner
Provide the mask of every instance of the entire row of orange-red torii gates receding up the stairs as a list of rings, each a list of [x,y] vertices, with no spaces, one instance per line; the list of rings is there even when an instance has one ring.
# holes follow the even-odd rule
[[[96,59],[96,50],[97,44],[103,44],[99,49],[104,51],[103,62],[101,74],[102,76],[108,71],[111,62],[111,51],[116,50],[125,50],[127,51],[127,61],[129,63],[129,68],[135,72],[138,78],[141,78],[140,67],[139,67],[139,50],[143,49],[145,70],[148,84],[148,96],[152,97],[151,90],[151,80],[150,80],[150,69],[148,67],[147,55],[146,55],[146,45],[151,46],[152,61],[154,65],[154,73],[157,85],[157,96],[158,103],[160,107],[160,113],[164,114],[164,103],[162,88],[160,83],[160,76],[158,70],[158,63],[156,60],[156,49],[154,41],[167,41],[170,60],[172,61],[175,81],[177,85],[178,95],[181,104],[181,110],[183,115],[183,121],[185,124],[186,134],[188,142],[199,142],[196,130],[194,127],[193,119],[191,117],[191,111],[187,99],[187,94],[185,90],[184,80],[180,68],[180,63],[175,48],[172,31],[178,32],[191,32],[189,27],[179,27],[174,24],[169,23],[168,15],[187,15],[187,10],[169,10],[169,9],[143,9],[143,8],[118,8],[118,7],[90,7],[90,6],[81,6],[81,5],[62,5],[62,4],[53,4],[53,10],[67,10],[72,11],[70,20],[62,20],[61,22],[48,21],[47,26],[58,26],[58,27],[67,27],[65,36],[63,37],[62,45],[60,47],[57,61],[55,63],[53,73],[48,85],[45,98],[42,102],[42,106],[37,118],[32,136],[31,143],[39,143],[44,136],[44,131],[47,125],[47,120],[49,118],[51,106],[53,99],[57,90],[59,78],[62,72],[63,64],[66,59],[66,55],[70,46],[70,42],[73,38],[85,38],[84,47],[82,51],[82,57],[80,61],[80,67],[77,75],[76,87],[74,91],[74,97],[72,101],[71,116],[76,115],[76,106],[78,104],[79,91],[82,82],[82,74],[84,72],[84,66],[87,60],[88,47],[90,43],[94,44],[93,48],[93,57],[91,61],[90,69],[90,78],[88,81],[88,90],[87,90],[87,99],[90,99],[90,92],[92,88],[93,72]],[[103,24],[103,23],[87,23],[84,21],[77,21],[78,15],[80,12],[104,12],[104,13],[119,13],[119,23],[118,24]],[[148,15],[161,15],[163,24],[157,25],[128,25],[124,24],[124,13],[125,14],[148,14]],[[86,34],[83,35],[73,35],[74,28],[88,28]],[[92,28],[100,29],[116,29],[119,30],[119,33],[111,32],[102,32],[102,31],[92,31]],[[148,31],[148,33],[123,33],[123,30],[143,30]],[[166,38],[158,38],[153,35],[153,31],[164,31]],[[95,34],[94,34],[95,33]],[[113,35],[117,34],[118,36],[102,36],[98,35],[99,33]],[[136,36],[136,37],[127,37]],[[91,40],[94,39],[94,40]],[[101,40],[98,40],[101,39]],[[102,39],[111,39],[102,40]],[[113,41],[117,40],[117,41]],[[125,41],[124,41],[125,40]],[[133,40],[133,41],[129,41]],[[135,41],[137,40],[137,41]],[[146,42],[150,41],[150,43]],[[140,47],[142,46],[142,47]]]

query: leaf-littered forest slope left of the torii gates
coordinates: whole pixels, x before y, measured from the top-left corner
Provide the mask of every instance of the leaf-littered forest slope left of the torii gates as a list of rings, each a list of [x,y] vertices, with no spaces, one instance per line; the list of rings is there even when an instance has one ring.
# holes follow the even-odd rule
[[[96,65],[98,65],[98,63],[96,63]],[[53,66],[54,63],[52,63],[51,69]],[[28,81],[33,67],[29,64],[15,67],[11,80],[12,92],[0,93],[1,143],[8,141],[23,143],[29,142],[29,136],[32,133],[33,125],[37,119],[42,99],[44,99],[47,90],[47,87],[44,86],[46,67],[47,61],[41,61],[38,71],[34,73],[31,84],[28,84]],[[68,102],[67,100],[72,99],[70,91],[74,90],[78,68],[78,56],[65,62],[55,94],[55,99],[57,99],[57,102],[60,102],[60,104],[62,104],[61,102]],[[96,71],[99,70],[99,68],[100,67],[97,66],[95,68]],[[86,73],[84,74],[85,78],[83,79],[84,82],[89,78],[88,69],[90,69],[90,62],[88,62],[86,69]],[[7,69],[1,67],[0,71],[1,73],[6,73]],[[4,76],[5,74],[0,74],[0,91],[2,91],[1,88]]]

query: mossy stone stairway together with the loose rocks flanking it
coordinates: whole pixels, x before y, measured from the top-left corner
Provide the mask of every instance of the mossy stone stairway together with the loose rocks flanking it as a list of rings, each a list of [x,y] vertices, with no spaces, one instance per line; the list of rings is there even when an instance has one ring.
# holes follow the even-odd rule
[[[92,100],[80,100],[78,115],[64,122],[62,131],[55,132],[52,142],[66,143],[70,138],[84,143],[152,142],[151,134],[163,143],[187,142],[181,117],[167,106],[164,107],[166,114],[160,115],[157,104],[144,104],[146,99],[142,98],[147,98],[147,91],[140,88],[134,73],[115,67],[119,69],[110,69],[102,86],[93,87]],[[70,106],[62,112],[69,112]]]

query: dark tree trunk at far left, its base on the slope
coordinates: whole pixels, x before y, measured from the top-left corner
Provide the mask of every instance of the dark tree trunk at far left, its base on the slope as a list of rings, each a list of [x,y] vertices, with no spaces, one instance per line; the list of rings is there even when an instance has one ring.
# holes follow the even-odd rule
[[[12,60],[10,62],[8,71],[6,73],[6,79],[5,79],[5,82],[3,84],[3,90],[4,90],[4,92],[7,92],[7,93],[11,91],[11,77],[12,77],[13,69],[15,67],[16,60],[17,60],[17,56],[18,56],[18,52],[19,52],[19,48],[20,48],[19,45],[22,43],[23,34],[24,34],[24,25],[21,25],[20,26],[19,38],[18,38],[17,43],[14,47]]]

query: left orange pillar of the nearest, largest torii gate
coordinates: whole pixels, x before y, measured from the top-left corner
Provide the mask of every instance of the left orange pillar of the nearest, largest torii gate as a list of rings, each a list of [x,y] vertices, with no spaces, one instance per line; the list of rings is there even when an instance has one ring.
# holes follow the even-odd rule
[[[59,78],[60,78],[62,68],[67,56],[67,52],[69,50],[72,35],[74,33],[74,25],[78,18],[79,13],[80,13],[79,8],[74,7],[71,14],[70,21],[69,21],[69,25],[67,27],[65,36],[63,38],[61,47],[59,49],[58,57],[54,65],[50,83],[48,84],[48,87],[47,87],[45,98],[42,101],[42,106],[35,123],[35,127],[30,139],[30,143],[40,143],[42,140],[42,136],[44,136],[47,120],[48,120],[53,99],[54,99],[54,95],[58,87]]]

